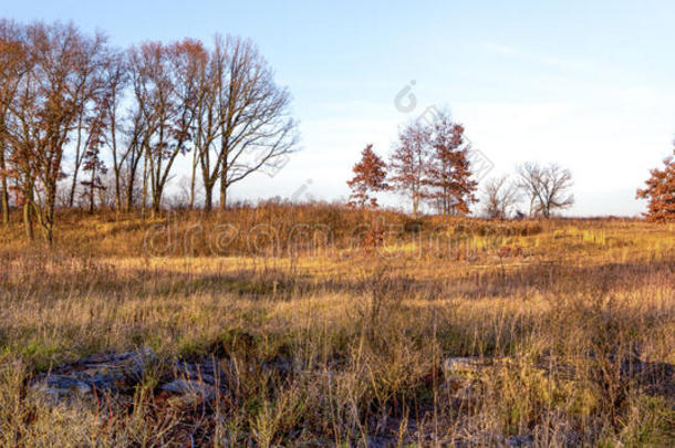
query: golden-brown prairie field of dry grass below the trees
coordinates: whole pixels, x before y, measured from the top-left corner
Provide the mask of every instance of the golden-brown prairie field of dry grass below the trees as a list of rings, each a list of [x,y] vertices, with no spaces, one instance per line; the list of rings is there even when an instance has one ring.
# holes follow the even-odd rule
[[[675,444],[675,226],[267,204],[62,211],[50,248],[13,219],[2,446]],[[35,386],[133,351],[127,388]],[[208,399],[160,387],[204,362]]]

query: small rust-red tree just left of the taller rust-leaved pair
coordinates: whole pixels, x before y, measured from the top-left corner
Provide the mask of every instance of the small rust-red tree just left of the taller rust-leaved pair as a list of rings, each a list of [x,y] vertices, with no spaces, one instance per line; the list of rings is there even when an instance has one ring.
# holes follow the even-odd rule
[[[384,160],[373,150],[373,145],[367,145],[361,152],[361,160],[352,168],[354,177],[346,183],[352,189],[350,205],[359,208],[366,205],[377,207],[377,199],[372,195],[390,188],[385,166]]]

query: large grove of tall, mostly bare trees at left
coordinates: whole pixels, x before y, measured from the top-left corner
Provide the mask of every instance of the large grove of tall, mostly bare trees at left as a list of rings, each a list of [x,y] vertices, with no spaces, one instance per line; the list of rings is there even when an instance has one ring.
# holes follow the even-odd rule
[[[189,207],[199,181],[204,208],[212,209],[215,192],[225,208],[232,184],[297,148],[290,103],[256,45],[239,37],[117,49],[72,23],[0,20],[2,221],[20,209],[28,238],[38,226],[51,242],[64,189],[71,207],[84,198],[93,210],[112,188],[116,210],[154,215],[186,156]]]

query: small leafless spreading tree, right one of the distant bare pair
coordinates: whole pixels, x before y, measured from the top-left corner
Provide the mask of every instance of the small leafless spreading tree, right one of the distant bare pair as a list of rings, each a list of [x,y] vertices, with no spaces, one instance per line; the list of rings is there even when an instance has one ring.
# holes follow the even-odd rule
[[[530,199],[530,217],[542,215],[550,218],[551,212],[565,209],[574,204],[572,173],[555,164],[541,166],[526,163],[518,167],[519,186]]]

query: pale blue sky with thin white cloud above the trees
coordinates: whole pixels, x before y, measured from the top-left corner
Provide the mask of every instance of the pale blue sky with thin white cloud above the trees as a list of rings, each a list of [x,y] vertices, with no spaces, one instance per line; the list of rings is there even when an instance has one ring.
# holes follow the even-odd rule
[[[301,150],[233,199],[346,198],[363,147],[386,156],[429,107],[464,124],[494,166],[484,180],[569,168],[568,216],[640,215],[635,190],[673,152],[672,1],[2,0],[0,15],[72,20],[118,46],[251,38],[293,96]]]

